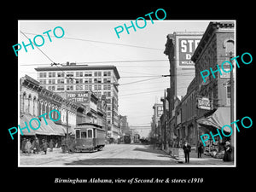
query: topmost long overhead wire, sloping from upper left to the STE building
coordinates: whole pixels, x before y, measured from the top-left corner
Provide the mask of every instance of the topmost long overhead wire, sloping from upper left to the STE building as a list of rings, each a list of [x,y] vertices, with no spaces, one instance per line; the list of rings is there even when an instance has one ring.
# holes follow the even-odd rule
[[[30,35],[38,35],[38,34],[32,33],[32,32],[25,32],[25,33],[30,34]],[[46,36],[46,35],[43,34],[43,36]],[[53,36],[50,36],[50,37],[53,37]],[[96,40],[90,40],[90,39],[84,39],[84,38],[67,38],[67,37],[62,37],[62,38],[66,38],[66,39],[70,39],[70,40],[77,40],[77,41],[87,41],[87,42],[92,42],[92,43],[97,43],[97,44],[113,44],[113,45],[133,47],[133,48],[163,50],[163,49],[160,49],[160,48],[143,47],[143,46],[132,45],[132,44],[116,44],[116,43],[111,43],[111,42],[96,41]]]

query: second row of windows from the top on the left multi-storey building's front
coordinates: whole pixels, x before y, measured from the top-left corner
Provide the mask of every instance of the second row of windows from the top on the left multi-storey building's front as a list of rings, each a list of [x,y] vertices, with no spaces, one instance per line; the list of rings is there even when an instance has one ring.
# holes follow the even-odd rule
[[[40,84],[108,84],[111,83],[110,78],[95,79],[40,79]]]

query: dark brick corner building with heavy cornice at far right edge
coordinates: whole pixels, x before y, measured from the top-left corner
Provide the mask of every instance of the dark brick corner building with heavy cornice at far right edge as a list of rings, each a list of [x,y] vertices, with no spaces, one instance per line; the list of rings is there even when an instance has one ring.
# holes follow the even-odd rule
[[[195,62],[195,84],[197,85],[197,126],[198,140],[204,133],[217,133],[216,129],[221,129],[223,125],[230,125],[230,73],[222,74],[217,70],[224,61],[230,61],[231,55],[235,54],[234,40],[235,23],[230,22],[210,22],[204,36],[201,38],[191,60]],[[209,70],[212,67],[214,77],[211,73],[206,82],[201,77],[201,71]],[[225,66],[225,71],[230,71],[230,66]],[[233,79],[232,79],[233,81]],[[234,96],[234,95],[233,95]],[[204,100],[204,101],[202,101]],[[201,108],[206,108],[207,113],[202,113]],[[218,124],[213,123],[218,119]],[[227,134],[227,133],[226,133]],[[227,134],[228,135],[228,134]],[[231,137],[214,137],[207,141],[206,150],[208,152],[220,152],[223,149],[225,140],[230,140],[234,146],[234,134]]]

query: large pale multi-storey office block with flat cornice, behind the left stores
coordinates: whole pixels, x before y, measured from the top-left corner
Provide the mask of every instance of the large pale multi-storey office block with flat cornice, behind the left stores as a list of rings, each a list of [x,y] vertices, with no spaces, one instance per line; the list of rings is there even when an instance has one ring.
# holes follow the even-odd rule
[[[40,84],[63,97],[76,96],[75,102],[87,104],[91,91],[99,99],[103,95],[107,101],[108,137],[117,139],[119,136],[118,115],[118,81],[119,72],[112,65],[76,65],[69,63],[64,66],[37,67],[38,81]]]

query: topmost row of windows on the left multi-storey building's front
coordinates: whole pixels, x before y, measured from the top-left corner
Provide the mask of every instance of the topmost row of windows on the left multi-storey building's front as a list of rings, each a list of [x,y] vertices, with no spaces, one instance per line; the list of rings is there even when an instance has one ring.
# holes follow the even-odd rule
[[[111,76],[110,71],[97,71],[97,72],[66,72],[67,77],[107,77]],[[64,78],[65,73],[64,72],[40,72],[39,78]]]

